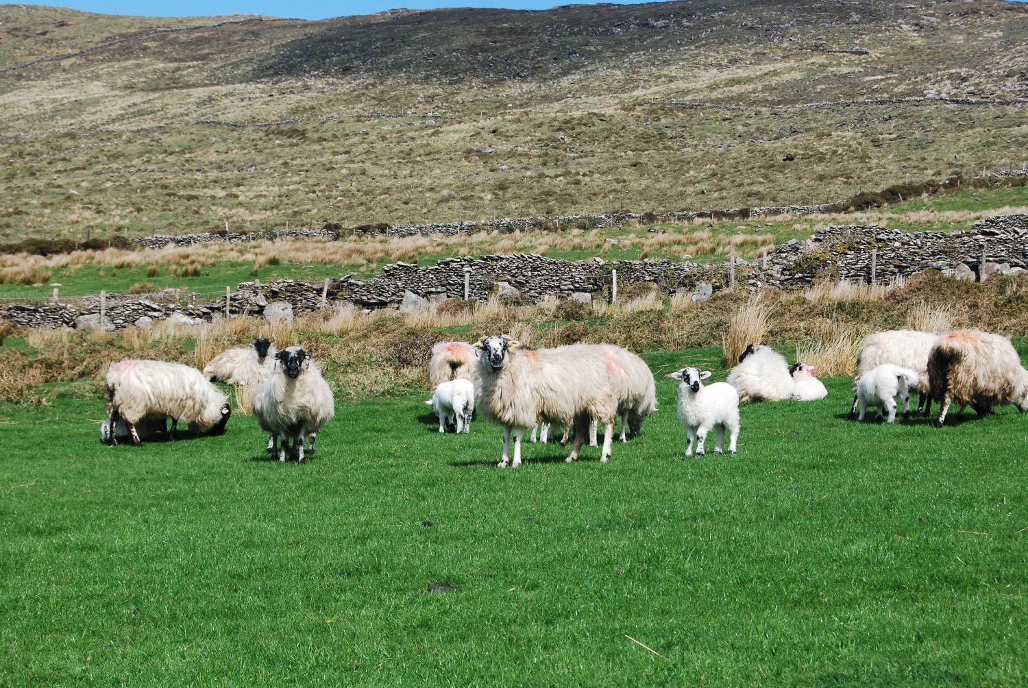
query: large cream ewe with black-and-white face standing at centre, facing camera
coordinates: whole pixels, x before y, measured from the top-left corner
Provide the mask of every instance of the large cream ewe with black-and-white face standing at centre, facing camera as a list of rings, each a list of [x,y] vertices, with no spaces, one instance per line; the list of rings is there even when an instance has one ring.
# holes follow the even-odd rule
[[[488,419],[504,426],[506,467],[514,435],[513,466],[521,465],[521,437],[537,423],[575,425],[575,444],[566,461],[578,459],[589,432],[589,421],[603,424],[600,461],[611,458],[618,398],[608,362],[587,345],[519,351],[520,342],[504,335],[482,337],[474,367],[476,402]]]

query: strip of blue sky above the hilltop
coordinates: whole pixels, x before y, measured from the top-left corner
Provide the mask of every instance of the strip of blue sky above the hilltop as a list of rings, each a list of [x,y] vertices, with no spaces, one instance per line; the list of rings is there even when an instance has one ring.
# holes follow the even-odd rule
[[[9,0],[5,0],[9,1]],[[598,0],[580,0],[577,4],[596,4]],[[638,4],[630,0],[607,0],[619,5]],[[270,16],[324,20],[343,14],[370,14],[383,9],[433,9],[436,7],[509,7],[513,9],[549,9],[571,4],[568,0],[348,0],[342,2],[284,0],[68,0],[67,2],[22,2],[28,5],[70,7],[102,14],[145,14],[148,16],[211,16],[216,14],[264,14]]]

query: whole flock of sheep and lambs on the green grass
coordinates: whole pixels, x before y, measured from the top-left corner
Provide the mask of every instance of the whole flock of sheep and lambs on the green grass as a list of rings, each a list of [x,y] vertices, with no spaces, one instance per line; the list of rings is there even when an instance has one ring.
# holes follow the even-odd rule
[[[180,363],[126,359],[107,371],[108,419],[101,429],[105,442],[119,439],[140,444],[143,437],[167,432],[174,439],[179,421],[191,430],[220,434],[231,414],[226,396],[212,382],[249,386],[253,414],[268,433],[267,451],[280,461],[287,454],[303,463],[314,454],[321,427],[334,415],[328,384],[301,347],[276,352],[266,338],[251,349],[231,349],[201,371]],[[501,467],[521,464],[521,440],[542,428],[545,442],[551,425],[565,428],[563,443],[574,442],[566,461],[578,459],[587,437],[596,446],[602,426],[600,461],[611,458],[615,422],[621,441],[639,432],[657,409],[656,384],[649,366],[635,354],[613,345],[577,343],[529,350],[507,335],[484,336],[474,345],[437,343],[429,362],[430,404],[439,432],[448,425],[470,432],[476,408],[504,427]],[[678,381],[678,418],[686,429],[686,456],[703,456],[707,434],[715,433],[714,452],[736,452],[739,405],[754,401],[810,401],[828,395],[824,385],[803,363],[790,366],[770,347],[752,343],[739,357],[726,383],[703,385],[710,372],[685,367],[668,375]],[[850,417],[862,421],[869,406],[895,420],[896,397],[910,410],[910,393],[920,395],[918,411],[940,404],[942,427],[953,403],[971,405],[985,414],[999,405],[1028,411],[1028,370],[1009,339],[978,329],[943,334],[911,330],[876,332],[865,337],[857,357],[855,396]],[[513,456],[511,438],[514,439]],[[304,449],[304,444],[307,444]]]

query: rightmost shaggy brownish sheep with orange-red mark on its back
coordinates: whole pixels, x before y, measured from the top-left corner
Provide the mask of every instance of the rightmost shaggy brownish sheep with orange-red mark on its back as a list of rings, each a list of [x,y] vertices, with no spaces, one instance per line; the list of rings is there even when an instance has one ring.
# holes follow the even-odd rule
[[[1028,370],[999,334],[979,329],[943,334],[928,355],[928,382],[931,398],[942,404],[940,428],[953,402],[971,404],[979,413],[1005,404],[1028,411]]]

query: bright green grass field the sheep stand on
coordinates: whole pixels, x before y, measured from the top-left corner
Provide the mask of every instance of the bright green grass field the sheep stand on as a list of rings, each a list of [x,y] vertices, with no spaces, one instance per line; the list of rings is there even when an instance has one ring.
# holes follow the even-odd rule
[[[686,460],[663,375],[720,355],[648,356],[608,465],[498,469],[417,390],[305,466],[242,415],[109,448],[99,399],[6,405],[0,684],[1024,685],[1025,417],[858,425],[836,378]]]

